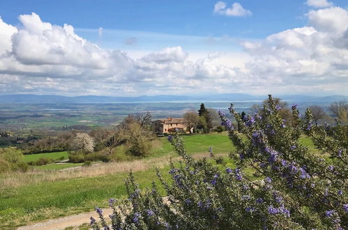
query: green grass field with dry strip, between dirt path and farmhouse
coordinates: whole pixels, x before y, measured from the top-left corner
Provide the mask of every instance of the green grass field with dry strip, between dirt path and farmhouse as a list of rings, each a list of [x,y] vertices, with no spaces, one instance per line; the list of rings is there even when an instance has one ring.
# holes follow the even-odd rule
[[[208,155],[209,146],[213,147],[216,154],[227,154],[234,150],[226,134],[188,135],[183,136],[183,139],[188,153],[200,157]],[[308,137],[301,137],[301,141],[310,151],[319,153]],[[29,222],[82,213],[95,206],[105,207],[109,198],[120,199],[126,196],[123,180],[130,169],[135,171],[137,183],[142,188],[151,185],[153,179],[156,180],[154,167],[159,167],[163,175],[169,178],[167,162],[171,156],[174,156],[172,146],[166,138],[161,138],[158,139],[150,158],[96,164],[68,171],[38,170],[24,174],[0,175],[0,184],[3,183],[0,186],[0,226],[11,228]],[[41,169],[59,167],[63,166],[49,164]]]

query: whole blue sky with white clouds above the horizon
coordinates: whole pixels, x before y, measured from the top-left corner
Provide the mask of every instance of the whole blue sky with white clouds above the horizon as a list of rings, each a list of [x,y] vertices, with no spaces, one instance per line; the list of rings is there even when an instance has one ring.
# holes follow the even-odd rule
[[[1,0],[22,93],[348,95],[348,1]]]

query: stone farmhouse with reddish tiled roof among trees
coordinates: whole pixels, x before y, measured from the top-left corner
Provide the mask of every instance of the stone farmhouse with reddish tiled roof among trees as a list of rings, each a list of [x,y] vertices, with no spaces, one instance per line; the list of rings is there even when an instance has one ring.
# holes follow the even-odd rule
[[[152,122],[152,128],[156,133],[169,133],[175,132],[178,129],[179,132],[187,131],[188,123],[185,118],[164,118]]]

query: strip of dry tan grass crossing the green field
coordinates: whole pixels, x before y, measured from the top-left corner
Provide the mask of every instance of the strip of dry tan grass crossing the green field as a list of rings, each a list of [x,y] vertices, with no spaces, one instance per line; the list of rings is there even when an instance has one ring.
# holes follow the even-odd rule
[[[203,158],[207,153],[197,153],[195,158]],[[172,158],[173,161],[179,161],[181,158]],[[52,182],[70,180],[73,178],[96,177],[109,174],[116,174],[121,172],[145,171],[158,167],[162,169],[169,163],[169,156],[162,156],[159,158],[149,158],[142,160],[133,160],[130,162],[109,162],[102,164],[92,164],[90,167],[78,167],[70,170],[61,171],[40,171],[33,169],[25,173],[16,172],[3,174],[0,178],[0,191],[8,188],[20,187],[28,184],[35,184],[40,182]]]

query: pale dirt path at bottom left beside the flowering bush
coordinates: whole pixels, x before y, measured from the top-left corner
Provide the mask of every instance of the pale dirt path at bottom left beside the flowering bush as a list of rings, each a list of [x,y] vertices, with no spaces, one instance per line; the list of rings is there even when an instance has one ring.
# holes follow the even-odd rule
[[[105,208],[103,209],[103,214],[105,217],[108,217],[112,213],[111,208]],[[94,217],[96,220],[98,220],[98,214],[96,211],[90,212],[90,213],[80,213],[77,215],[70,215],[68,217],[61,217],[57,219],[47,220],[45,222],[39,222],[36,224],[31,224],[24,227],[19,227],[18,230],[40,230],[40,229],[66,229],[68,227],[78,227],[81,224],[89,223],[89,217]]]

